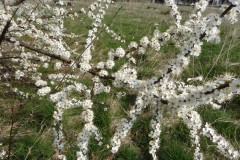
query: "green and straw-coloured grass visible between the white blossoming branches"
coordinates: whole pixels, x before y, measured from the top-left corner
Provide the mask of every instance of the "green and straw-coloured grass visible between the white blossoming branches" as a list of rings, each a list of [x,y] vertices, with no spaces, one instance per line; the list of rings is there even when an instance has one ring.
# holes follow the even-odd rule
[[[113,15],[119,7],[123,6],[117,17],[111,23],[111,28],[119,33],[126,41],[121,44],[114,41],[106,33],[100,35],[99,41],[95,44],[94,54],[96,59],[101,59],[107,55],[110,48],[118,46],[126,47],[128,42],[138,41],[144,35],[151,35],[152,31],[158,27],[165,31],[171,24],[169,9],[158,5],[148,9],[149,4],[127,4],[117,3],[108,12],[105,23],[112,20]],[[79,8],[76,6],[76,8]],[[215,8],[213,8],[216,10]],[[208,12],[213,10],[209,8]],[[189,7],[180,7],[182,14],[186,17],[191,10]],[[83,23],[86,21],[86,23]],[[84,15],[75,19],[66,19],[66,28],[76,34],[83,35],[79,39],[68,39],[71,47],[74,42],[79,41],[84,44],[86,32],[90,26],[90,21]],[[203,75],[204,81],[213,80],[215,77],[231,72],[240,75],[240,27],[239,24],[231,26],[225,23],[222,27],[220,44],[204,44],[203,54],[192,59],[189,68],[180,76],[180,80],[188,77]],[[157,54],[150,52],[147,57],[139,57],[139,77],[144,79],[158,72],[168,59],[174,57],[177,49],[169,43],[162,47]],[[123,62],[119,62],[119,66]],[[86,85],[91,85],[86,78],[81,80]],[[27,86],[23,89],[29,90]],[[0,127],[2,129],[3,146],[9,150],[11,144],[11,159],[13,160],[45,160],[52,159],[54,154],[52,142],[52,114],[54,104],[45,98],[32,98],[26,104],[21,105],[18,97],[11,94],[4,94],[0,89]],[[124,91],[124,90],[122,90]],[[127,95],[117,99],[114,94],[100,94],[94,98],[94,123],[101,130],[104,137],[104,147],[99,147],[97,142],[90,142],[90,159],[116,159],[116,160],[148,160],[151,156],[148,153],[148,133],[150,131],[149,121],[151,115],[144,114],[134,124],[130,136],[124,140],[120,151],[114,156],[109,156],[107,144],[114,133],[116,122],[126,117],[126,112],[134,103],[135,96],[125,91]],[[107,108],[104,109],[104,108]],[[231,102],[224,104],[220,110],[213,110],[209,106],[199,109],[204,122],[211,123],[216,130],[232,142],[240,150],[240,98],[236,97]],[[76,137],[81,131],[83,123],[80,118],[81,109],[71,109],[64,113],[64,131],[66,136],[66,155],[68,159],[76,159]],[[193,159],[193,149],[191,147],[189,131],[180,120],[169,121],[166,118],[164,124],[161,147],[158,152],[159,159],[163,160],[191,160]],[[11,125],[13,124],[13,125]],[[13,126],[13,127],[11,127]],[[12,137],[9,133],[12,132]],[[201,139],[202,150],[206,159],[225,159],[217,151],[215,146],[206,138]]]

